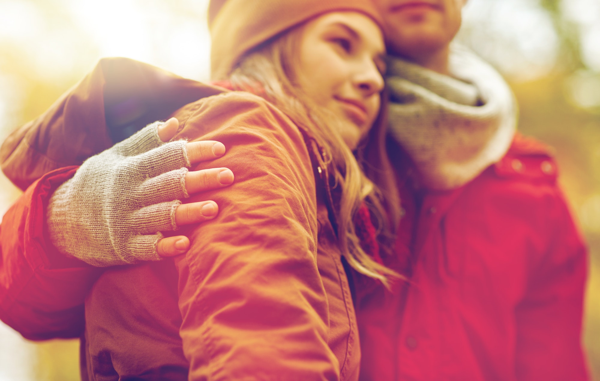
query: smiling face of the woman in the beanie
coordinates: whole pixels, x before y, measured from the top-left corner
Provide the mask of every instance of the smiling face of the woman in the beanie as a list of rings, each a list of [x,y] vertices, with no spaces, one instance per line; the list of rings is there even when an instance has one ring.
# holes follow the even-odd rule
[[[367,135],[379,113],[384,54],[382,32],[361,13],[328,13],[304,27],[299,85],[317,104],[340,116],[350,148]]]

